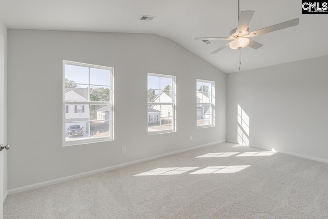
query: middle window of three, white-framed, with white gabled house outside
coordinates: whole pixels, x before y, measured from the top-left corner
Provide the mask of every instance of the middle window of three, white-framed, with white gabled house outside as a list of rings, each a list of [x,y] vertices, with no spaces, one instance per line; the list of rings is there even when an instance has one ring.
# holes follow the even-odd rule
[[[148,73],[148,134],[175,131],[175,76]]]

